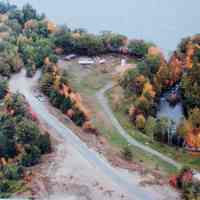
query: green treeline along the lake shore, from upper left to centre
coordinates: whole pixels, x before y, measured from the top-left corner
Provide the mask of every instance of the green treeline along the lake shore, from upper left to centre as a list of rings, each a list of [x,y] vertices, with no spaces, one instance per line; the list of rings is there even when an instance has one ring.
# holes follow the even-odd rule
[[[152,46],[143,40],[128,41],[126,36],[112,32],[94,35],[83,29],[58,27],[29,4],[18,9],[1,3],[0,14],[0,73],[8,77],[23,66],[27,75],[32,76],[46,57],[56,60],[56,53],[86,56],[125,53],[144,58]]]

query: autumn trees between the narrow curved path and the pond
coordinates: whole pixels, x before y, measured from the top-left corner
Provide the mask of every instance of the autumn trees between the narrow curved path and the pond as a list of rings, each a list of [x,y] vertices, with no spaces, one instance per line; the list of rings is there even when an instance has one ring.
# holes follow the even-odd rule
[[[138,46],[137,41],[132,44],[135,43]],[[167,63],[161,54],[150,54],[149,48],[143,43],[143,53],[138,51],[137,54],[143,59],[137,68],[127,70],[119,80],[125,98],[131,99],[131,105],[128,106],[129,118],[137,129],[152,140],[183,146],[182,136],[171,136],[174,134],[172,123],[165,118],[155,118],[160,95],[181,79],[181,66],[177,65],[174,58]]]

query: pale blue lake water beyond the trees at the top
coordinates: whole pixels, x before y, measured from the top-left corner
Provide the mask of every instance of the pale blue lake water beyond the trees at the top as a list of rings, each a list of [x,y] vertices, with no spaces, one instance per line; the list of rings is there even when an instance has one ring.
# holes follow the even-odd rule
[[[10,0],[31,3],[59,24],[98,33],[110,30],[159,45],[165,54],[200,32],[198,0]]]

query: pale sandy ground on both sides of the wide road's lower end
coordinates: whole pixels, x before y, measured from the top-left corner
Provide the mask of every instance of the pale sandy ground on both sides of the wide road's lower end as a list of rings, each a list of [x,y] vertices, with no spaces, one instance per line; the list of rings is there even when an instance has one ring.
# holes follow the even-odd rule
[[[54,145],[54,152],[44,156],[42,164],[33,169],[33,179],[29,186],[31,196],[35,199],[134,200],[83,159],[69,143],[59,139]],[[178,194],[166,185],[143,185],[142,182],[153,179],[150,175],[141,176],[138,173],[118,170],[130,179],[130,182],[137,182],[149,194],[156,196],[155,200],[179,199]]]

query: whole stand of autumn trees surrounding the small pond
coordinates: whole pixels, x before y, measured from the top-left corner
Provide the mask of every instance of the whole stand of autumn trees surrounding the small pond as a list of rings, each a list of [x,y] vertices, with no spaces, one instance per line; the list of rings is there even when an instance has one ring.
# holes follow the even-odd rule
[[[161,55],[145,55],[148,50],[144,44],[142,49],[143,60],[137,68],[126,71],[119,81],[125,96],[132,99],[128,108],[130,120],[157,141],[182,146],[185,140],[192,151],[199,151],[200,35],[183,39],[168,63]],[[169,137],[171,125],[167,119],[155,119],[155,114],[160,95],[177,81],[186,115],[177,127],[178,135]]]

